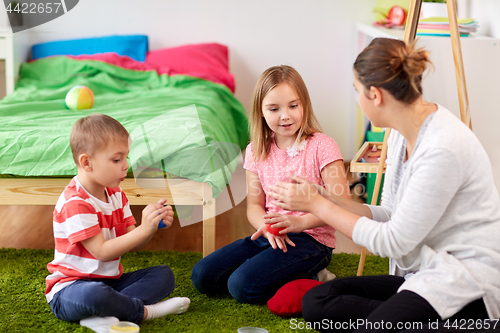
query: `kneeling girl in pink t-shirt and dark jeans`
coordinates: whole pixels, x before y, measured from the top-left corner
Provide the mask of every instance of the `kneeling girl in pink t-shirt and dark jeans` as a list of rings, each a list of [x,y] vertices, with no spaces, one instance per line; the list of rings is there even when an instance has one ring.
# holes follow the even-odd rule
[[[350,194],[340,150],[321,133],[304,81],[293,68],[271,67],[261,75],[250,123],[247,217],[257,231],[199,261],[191,280],[202,293],[229,292],[239,302],[265,304],[287,282],[334,277],[324,269],[335,229],[311,214],[275,206],[269,186],[300,174],[346,199]],[[274,230],[266,229],[268,224],[275,224]],[[278,233],[278,228],[284,229]]]

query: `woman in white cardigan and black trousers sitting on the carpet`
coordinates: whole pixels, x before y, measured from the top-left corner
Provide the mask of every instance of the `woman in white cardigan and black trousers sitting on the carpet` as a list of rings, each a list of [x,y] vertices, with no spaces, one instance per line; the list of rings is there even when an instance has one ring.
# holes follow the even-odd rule
[[[374,325],[432,331],[439,321],[445,328],[472,322],[471,328],[487,329],[495,322],[485,319],[500,317],[500,199],[490,162],[465,124],[422,98],[429,63],[415,44],[382,38],[354,63],[364,113],[375,126],[393,129],[382,206],[318,194],[300,177],[271,189],[277,206],[310,212],[392,258],[392,275],[337,279],[305,295],[304,318],[332,323],[324,331],[375,331]]]

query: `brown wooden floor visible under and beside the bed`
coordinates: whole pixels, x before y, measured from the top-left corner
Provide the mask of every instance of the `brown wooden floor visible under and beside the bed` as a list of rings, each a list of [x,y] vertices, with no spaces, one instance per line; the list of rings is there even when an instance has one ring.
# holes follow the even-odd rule
[[[355,181],[352,176],[350,181]],[[137,221],[142,209],[144,206],[132,206]],[[54,248],[53,210],[54,206],[0,206],[0,248]],[[254,232],[246,218],[246,199],[218,215],[216,221],[216,249]],[[202,223],[181,227],[176,220],[170,228],[158,230],[144,250],[202,252],[202,227]],[[337,232],[335,252],[360,253],[361,247]]]

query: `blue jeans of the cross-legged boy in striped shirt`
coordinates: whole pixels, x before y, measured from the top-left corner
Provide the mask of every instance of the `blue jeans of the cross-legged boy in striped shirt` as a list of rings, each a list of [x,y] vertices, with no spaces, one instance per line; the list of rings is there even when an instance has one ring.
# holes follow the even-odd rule
[[[66,321],[113,316],[140,324],[144,305],[159,302],[174,288],[174,273],[162,265],[118,279],[77,280],[58,291],[49,304],[56,317]]]

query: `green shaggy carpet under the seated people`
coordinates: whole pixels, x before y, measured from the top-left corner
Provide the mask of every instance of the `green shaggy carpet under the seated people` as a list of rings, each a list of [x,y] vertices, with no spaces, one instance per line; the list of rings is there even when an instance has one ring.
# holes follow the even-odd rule
[[[140,251],[122,257],[125,271],[166,264],[176,278],[174,296],[191,299],[189,310],[181,315],[144,321],[147,332],[236,332],[242,326],[258,326],[269,332],[314,332],[292,329],[291,318],[273,315],[266,305],[240,304],[229,296],[209,298],[194,289],[190,275],[200,253]],[[45,301],[46,265],[53,250],[0,249],[0,332],[86,332],[78,323],[57,319]],[[338,277],[356,275],[359,255],[334,254],[329,270]],[[388,260],[368,256],[364,275],[387,274]],[[304,322],[302,318],[296,319]],[[293,322],[296,325],[296,321]]]

